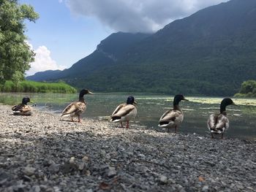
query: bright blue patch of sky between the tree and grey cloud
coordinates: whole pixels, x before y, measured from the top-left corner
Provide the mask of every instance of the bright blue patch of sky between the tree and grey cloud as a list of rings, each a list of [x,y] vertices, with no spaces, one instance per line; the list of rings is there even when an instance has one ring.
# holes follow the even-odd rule
[[[113,32],[94,18],[72,15],[66,4],[58,0],[20,1],[20,4],[25,3],[31,4],[39,13],[36,23],[26,22],[29,44],[39,53],[50,51],[42,55],[39,64],[27,74],[51,68],[69,68],[92,53],[99,42]]]

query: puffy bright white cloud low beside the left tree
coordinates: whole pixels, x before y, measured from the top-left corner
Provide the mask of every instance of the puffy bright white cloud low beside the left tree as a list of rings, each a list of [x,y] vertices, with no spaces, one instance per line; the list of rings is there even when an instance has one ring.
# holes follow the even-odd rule
[[[31,44],[28,43],[28,45],[33,49]],[[46,70],[64,69],[64,66],[58,65],[56,61],[50,57],[50,50],[44,45],[39,46],[37,50],[34,50],[34,53],[37,55],[34,57],[34,62],[30,64],[31,68],[26,72],[26,76]]]

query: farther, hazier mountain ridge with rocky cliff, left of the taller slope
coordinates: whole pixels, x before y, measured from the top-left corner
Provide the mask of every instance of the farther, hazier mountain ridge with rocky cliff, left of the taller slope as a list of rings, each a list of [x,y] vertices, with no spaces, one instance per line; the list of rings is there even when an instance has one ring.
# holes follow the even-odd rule
[[[116,63],[130,47],[148,36],[149,34],[130,34],[123,32],[111,34],[97,45],[97,50],[94,53],[80,59],[80,61],[73,64],[69,69],[64,69],[64,71],[37,72],[34,75],[26,77],[26,79],[34,81],[54,81],[61,79],[76,87],[83,87],[83,79],[90,73]],[[81,85],[80,82],[82,82]]]

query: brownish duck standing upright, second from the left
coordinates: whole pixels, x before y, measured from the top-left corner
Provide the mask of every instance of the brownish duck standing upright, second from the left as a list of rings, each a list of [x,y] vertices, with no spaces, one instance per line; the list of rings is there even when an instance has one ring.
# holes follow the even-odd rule
[[[80,123],[80,115],[86,111],[86,101],[84,101],[83,96],[86,94],[93,94],[87,89],[83,89],[79,93],[79,101],[74,101],[69,104],[62,112],[61,117],[70,116],[71,120],[73,117],[78,116],[78,122]]]

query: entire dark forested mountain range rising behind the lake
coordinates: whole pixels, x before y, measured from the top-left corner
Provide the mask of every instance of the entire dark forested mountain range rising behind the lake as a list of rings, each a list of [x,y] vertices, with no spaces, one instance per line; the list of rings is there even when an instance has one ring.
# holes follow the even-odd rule
[[[233,95],[241,82],[256,78],[255,20],[255,0],[231,0],[155,34],[111,34],[71,68],[27,78],[94,91]]]

